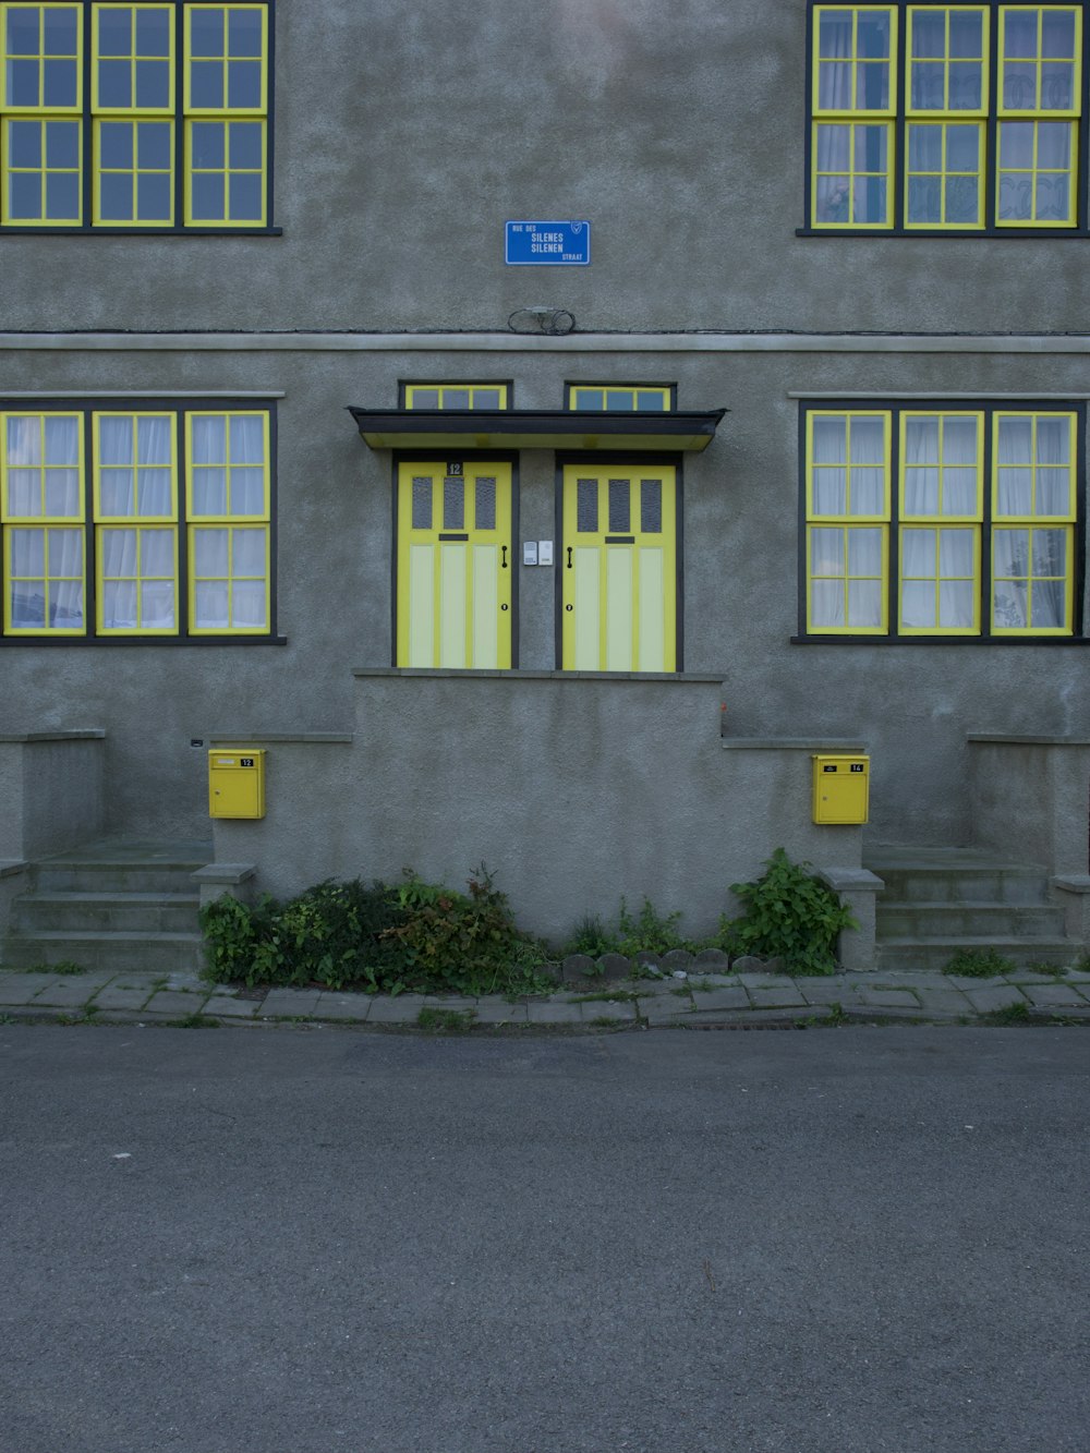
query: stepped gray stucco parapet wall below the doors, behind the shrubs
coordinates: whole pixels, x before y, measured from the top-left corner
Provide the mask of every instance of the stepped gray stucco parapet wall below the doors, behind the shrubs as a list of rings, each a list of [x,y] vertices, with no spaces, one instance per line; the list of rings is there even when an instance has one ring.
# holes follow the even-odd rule
[[[552,939],[622,897],[706,934],[776,846],[859,865],[860,828],[811,821],[814,750],[721,741],[715,681],[360,671],[353,742],[270,742],[266,817],[217,819],[215,851],[275,894],[484,863]]]

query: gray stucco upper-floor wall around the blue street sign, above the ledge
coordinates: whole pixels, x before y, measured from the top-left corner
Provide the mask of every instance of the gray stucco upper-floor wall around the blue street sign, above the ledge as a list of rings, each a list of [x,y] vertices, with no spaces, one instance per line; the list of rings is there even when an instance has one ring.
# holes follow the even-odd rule
[[[4,238],[4,325],[497,328],[555,301],[590,330],[1086,328],[1086,243],[795,237],[805,15],[282,0],[283,235],[97,237],[78,266]],[[520,216],[589,218],[593,264],[504,267]]]

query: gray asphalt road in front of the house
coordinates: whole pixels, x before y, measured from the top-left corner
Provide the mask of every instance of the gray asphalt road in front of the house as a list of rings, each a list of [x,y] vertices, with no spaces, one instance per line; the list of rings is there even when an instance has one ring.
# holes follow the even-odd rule
[[[1086,1453],[1081,1029],[0,1029],[1,1453]]]

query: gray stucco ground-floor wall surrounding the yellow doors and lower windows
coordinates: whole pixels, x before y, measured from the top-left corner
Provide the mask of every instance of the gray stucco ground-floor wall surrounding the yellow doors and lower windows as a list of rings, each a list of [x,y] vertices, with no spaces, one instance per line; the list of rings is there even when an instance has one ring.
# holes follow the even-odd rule
[[[1090,719],[1078,644],[792,645],[798,628],[798,401],[792,392],[1077,397],[1064,355],[549,352],[0,352],[20,389],[262,389],[278,404],[278,628],[286,645],[4,647],[0,729],[102,726],[108,825],[208,830],[206,758],[190,740],[240,726],[347,731],[350,671],[391,664],[392,465],[347,402],[389,405],[398,378],[512,378],[523,407],[555,407],[568,378],[676,379],[682,407],[731,413],[685,475],[685,664],[722,681],[741,737],[862,737],[872,827],[891,841],[968,841],[966,732],[1064,735]],[[612,341],[612,340],[609,340]],[[865,344],[859,344],[862,349]],[[519,461],[520,536],[555,535],[548,450]],[[520,665],[552,670],[555,572],[520,568]],[[517,697],[516,697],[517,699]],[[519,708],[532,716],[529,696]],[[542,799],[554,785],[539,779]],[[772,843],[770,846],[775,846]],[[764,851],[764,846],[759,851]]]

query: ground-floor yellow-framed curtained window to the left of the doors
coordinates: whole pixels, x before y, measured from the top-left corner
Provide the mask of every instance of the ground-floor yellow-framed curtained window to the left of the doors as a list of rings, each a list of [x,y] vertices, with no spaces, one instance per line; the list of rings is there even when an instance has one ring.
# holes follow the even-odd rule
[[[267,636],[272,410],[0,404],[4,636]]]

